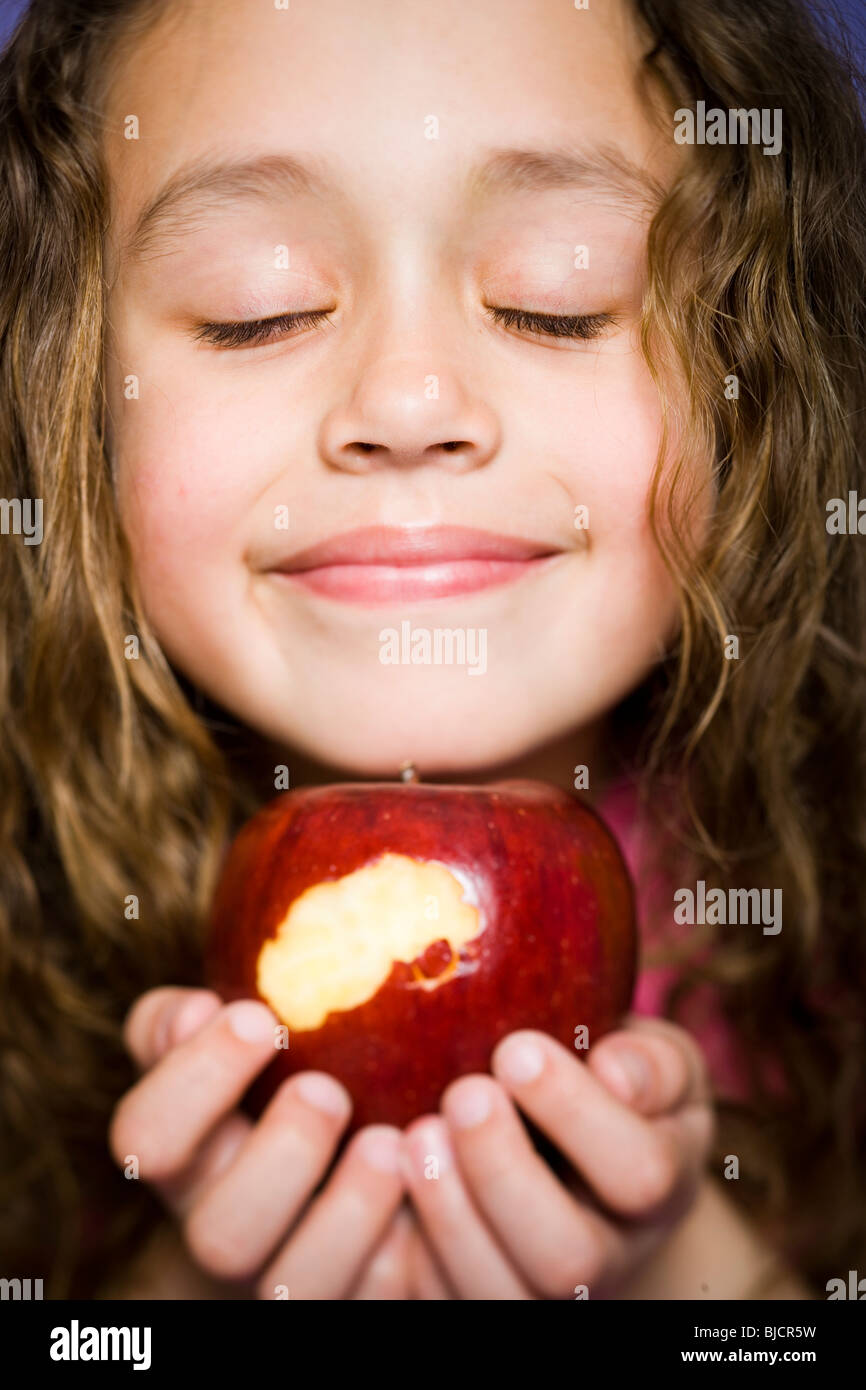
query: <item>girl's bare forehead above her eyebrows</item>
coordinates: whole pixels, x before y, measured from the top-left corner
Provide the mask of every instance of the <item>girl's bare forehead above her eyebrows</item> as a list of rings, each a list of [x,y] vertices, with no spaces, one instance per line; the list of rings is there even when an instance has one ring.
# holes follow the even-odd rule
[[[111,67],[117,235],[193,167],[284,156],[322,175],[317,196],[407,214],[445,203],[457,181],[467,196],[507,190],[478,177],[493,149],[603,147],[663,179],[676,147],[648,111],[645,47],[627,0],[171,0]],[[284,192],[292,182],[300,192],[291,178]]]

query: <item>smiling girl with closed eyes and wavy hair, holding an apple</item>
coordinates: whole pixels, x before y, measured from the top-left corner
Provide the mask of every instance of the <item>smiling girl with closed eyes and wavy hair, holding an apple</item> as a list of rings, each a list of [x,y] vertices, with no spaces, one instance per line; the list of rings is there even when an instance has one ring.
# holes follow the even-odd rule
[[[32,0],[0,93],[4,1272],[824,1297],[866,1258],[849,63],[796,0]],[[484,670],[385,664],[405,621]],[[587,795],[641,987],[334,1161],[332,1077],[239,1109],[275,1020],[202,931],[275,769],[406,759]],[[781,930],[680,910],[753,888]]]

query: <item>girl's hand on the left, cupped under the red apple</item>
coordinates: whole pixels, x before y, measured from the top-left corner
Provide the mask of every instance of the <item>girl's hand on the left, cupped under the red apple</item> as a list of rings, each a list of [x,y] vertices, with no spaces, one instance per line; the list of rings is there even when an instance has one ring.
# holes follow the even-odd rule
[[[224,1005],[209,990],[172,987],[143,994],[124,1026],[143,1076],[114,1112],[111,1154],[124,1168],[138,1158],[139,1176],[211,1277],[250,1284],[257,1298],[278,1297],[281,1286],[291,1298],[345,1298],[381,1243],[393,1244],[405,1141],[391,1126],[360,1130],[313,1195],[352,1101],[334,1077],[303,1072],[257,1122],[243,1115],[238,1102],[272,1059],[275,1027],[253,999]]]

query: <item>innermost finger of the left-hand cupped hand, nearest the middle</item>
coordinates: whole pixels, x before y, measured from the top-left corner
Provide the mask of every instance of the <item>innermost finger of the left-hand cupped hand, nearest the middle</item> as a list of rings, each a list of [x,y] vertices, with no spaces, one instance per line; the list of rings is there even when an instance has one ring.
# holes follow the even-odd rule
[[[257,1283],[259,1298],[345,1298],[405,1194],[403,1136],[370,1125],[350,1141],[324,1191]]]

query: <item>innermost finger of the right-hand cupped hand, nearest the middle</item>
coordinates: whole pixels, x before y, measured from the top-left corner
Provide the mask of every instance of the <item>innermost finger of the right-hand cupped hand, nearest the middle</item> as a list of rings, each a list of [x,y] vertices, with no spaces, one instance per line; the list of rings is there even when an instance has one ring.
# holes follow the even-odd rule
[[[531,1293],[474,1205],[439,1115],[406,1130],[406,1182],[424,1233],[460,1298]]]

